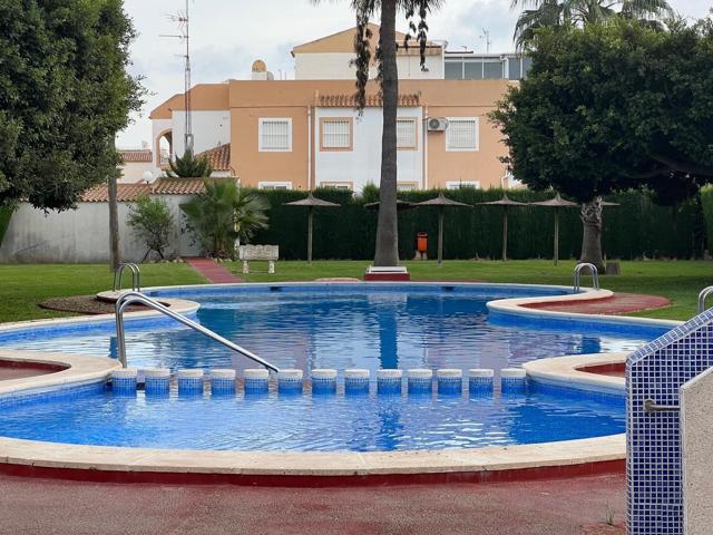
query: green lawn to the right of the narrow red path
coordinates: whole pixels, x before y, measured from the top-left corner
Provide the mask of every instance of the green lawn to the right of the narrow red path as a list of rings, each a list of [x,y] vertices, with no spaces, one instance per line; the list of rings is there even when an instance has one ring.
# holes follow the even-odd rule
[[[253,265],[254,264],[254,265]],[[436,262],[404,262],[412,280],[452,280],[512,282],[525,284],[572,284],[574,261],[560,262],[555,268],[548,260],[520,261],[446,261],[442,268]],[[276,273],[251,273],[242,275],[242,264],[226,264],[238,276],[250,282],[265,281],[310,281],[325,276],[353,276],[361,279],[368,261],[320,261],[309,265],[306,262],[277,262]],[[251,268],[266,271],[260,263]],[[590,279],[585,276],[583,284]],[[686,320],[695,314],[697,295],[701,289],[713,284],[713,262],[705,261],[646,261],[622,262],[622,274],[600,276],[603,288],[615,292],[649,293],[664,295],[672,301],[665,309],[637,312],[632,315]],[[712,303],[713,304],[713,303]]]

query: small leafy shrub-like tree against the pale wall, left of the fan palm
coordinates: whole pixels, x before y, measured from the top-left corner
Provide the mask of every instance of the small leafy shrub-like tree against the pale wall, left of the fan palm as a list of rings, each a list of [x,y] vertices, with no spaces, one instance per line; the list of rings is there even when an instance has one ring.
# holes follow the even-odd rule
[[[162,260],[166,257],[164,253],[175,232],[174,218],[166,201],[152,198],[148,195],[138,197],[136,203],[129,207],[127,223],[148,249],[144,260],[153,251],[158,253]]]

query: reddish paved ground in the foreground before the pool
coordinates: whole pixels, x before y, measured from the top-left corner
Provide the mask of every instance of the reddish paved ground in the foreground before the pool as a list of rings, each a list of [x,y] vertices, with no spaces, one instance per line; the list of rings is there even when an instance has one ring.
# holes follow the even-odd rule
[[[0,533],[624,535],[624,488],[623,475],[326,489],[0,476]]]

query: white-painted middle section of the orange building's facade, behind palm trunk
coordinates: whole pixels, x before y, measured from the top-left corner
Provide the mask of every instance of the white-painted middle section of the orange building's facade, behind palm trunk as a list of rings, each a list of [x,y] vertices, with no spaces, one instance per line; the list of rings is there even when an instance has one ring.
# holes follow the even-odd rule
[[[367,184],[379,185],[381,175],[381,108],[365,108],[361,118],[353,108],[316,108],[314,128],[314,177],[322,182],[351,182],[355,192]],[[416,182],[423,185],[423,128],[422,108],[399,108],[399,117],[417,117],[418,135],[416,150],[398,150],[399,182]],[[354,120],[353,150],[320,150],[320,118],[352,117]]]

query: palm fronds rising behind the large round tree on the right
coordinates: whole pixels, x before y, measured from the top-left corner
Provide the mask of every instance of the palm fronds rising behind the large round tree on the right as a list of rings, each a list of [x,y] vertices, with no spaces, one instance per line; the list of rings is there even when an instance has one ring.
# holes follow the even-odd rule
[[[673,16],[666,0],[512,0],[511,7],[522,8],[515,25],[518,49],[529,48],[539,28],[608,23],[618,17],[662,28],[661,21]]]

